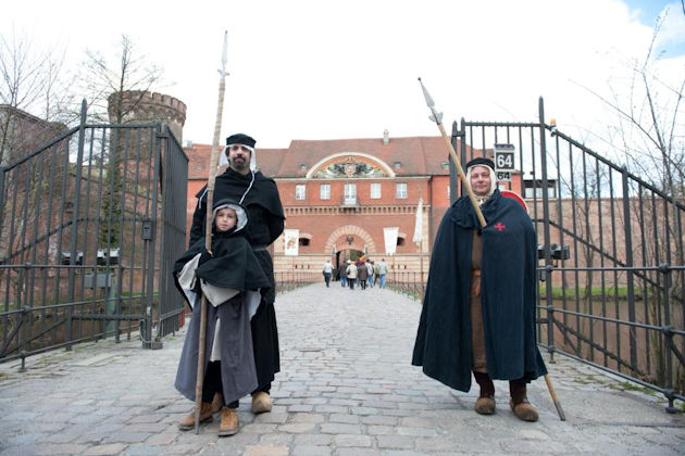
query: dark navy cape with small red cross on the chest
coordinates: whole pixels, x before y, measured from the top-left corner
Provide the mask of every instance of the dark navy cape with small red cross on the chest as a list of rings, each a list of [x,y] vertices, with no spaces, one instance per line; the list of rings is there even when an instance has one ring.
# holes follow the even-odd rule
[[[473,230],[483,236],[481,300],[491,379],[531,381],[547,373],[535,334],[537,240],[523,207],[498,190],[481,207],[468,197],[447,211],[433,245],[412,364],[446,385],[471,389],[470,283]]]

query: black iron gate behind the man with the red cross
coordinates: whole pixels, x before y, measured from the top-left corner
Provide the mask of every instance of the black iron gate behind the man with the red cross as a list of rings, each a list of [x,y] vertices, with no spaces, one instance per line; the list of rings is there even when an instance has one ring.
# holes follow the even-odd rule
[[[515,151],[538,236],[538,342],[669,400],[685,400],[683,199],[545,123],[456,123],[465,163]],[[513,148],[512,148],[513,145]],[[457,194],[456,176],[451,179]]]

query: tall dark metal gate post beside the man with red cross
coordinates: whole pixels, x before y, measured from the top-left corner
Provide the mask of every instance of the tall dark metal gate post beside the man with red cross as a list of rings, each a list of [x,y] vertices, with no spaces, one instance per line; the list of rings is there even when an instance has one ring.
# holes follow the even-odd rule
[[[547,186],[547,137],[545,131],[545,102],[543,97],[539,99],[539,123],[540,123],[540,166],[543,173],[543,237],[545,249],[545,301],[547,302],[547,351],[549,352],[549,362],[555,363],[555,306],[552,304],[552,263],[550,252],[550,235],[549,235],[549,194]]]

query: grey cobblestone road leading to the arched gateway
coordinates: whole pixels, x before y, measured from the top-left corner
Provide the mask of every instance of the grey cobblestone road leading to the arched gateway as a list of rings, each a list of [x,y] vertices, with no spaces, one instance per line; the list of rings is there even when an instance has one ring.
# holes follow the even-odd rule
[[[272,413],[240,403],[240,431],[217,438],[176,422],[192,404],[173,388],[185,332],[159,351],[140,342],[82,344],[0,365],[0,456],[7,455],[683,455],[685,417],[660,396],[563,357],[548,364],[568,420],[544,380],[525,423],[496,382],[497,414],[410,366],[420,304],[390,290],[315,284],[278,295],[282,372]],[[545,356],[547,360],[547,356]]]

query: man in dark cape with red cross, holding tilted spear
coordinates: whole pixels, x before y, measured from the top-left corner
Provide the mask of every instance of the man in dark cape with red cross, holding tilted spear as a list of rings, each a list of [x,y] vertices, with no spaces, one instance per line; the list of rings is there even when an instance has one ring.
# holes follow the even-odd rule
[[[493,379],[508,380],[513,414],[537,421],[526,395],[526,384],[547,373],[535,334],[535,230],[523,207],[497,190],[490,160],[474,159],[466,170],[487,225],[481,228],[469,197],[443,217],[412,365],[459,391],[471,389],[473,371],[482,415],[495,413]]]

